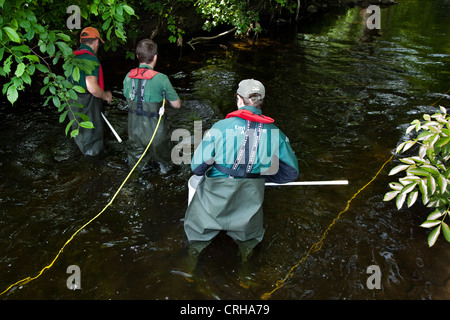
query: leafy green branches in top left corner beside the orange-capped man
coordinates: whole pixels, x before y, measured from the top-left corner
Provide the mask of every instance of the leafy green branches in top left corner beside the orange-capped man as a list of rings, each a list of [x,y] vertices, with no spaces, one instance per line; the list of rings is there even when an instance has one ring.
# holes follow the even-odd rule
[[[75,59],[72,52],[79,45],[81,31],[66,26],[66,10],[72,4],[73,1],[0,0],[0,76],[6,79],[2,94],[14,104],[26,85],[43,79],[40,93],[47,94],[45,104],[51,100],[61,113],[60,122],[66,118],[66,107],[75,113],[68,101],[76,99],[76,92],[84,91],[67,78],[72,75],[78,80],[80,70],[94,68],[88,61]],[[135,16],[132,7],[118,0],[85,0],[76,4],[80,7],[81,27],[93,26],[104,34],[106,50],[116,50],[126,42],[124,27]],[[60,69],[63,75],[58,74]],[[71,136],[77,134],[79,127],[92,127],[89,119],[83,120]]]

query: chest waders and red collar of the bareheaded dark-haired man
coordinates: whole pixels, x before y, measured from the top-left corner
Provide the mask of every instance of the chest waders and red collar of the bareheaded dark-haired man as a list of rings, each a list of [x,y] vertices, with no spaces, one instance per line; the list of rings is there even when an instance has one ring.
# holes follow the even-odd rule
[[[159,118],[162,102],[144,101],[145,86],[158,72],[147,68],[130,71],[131,98],[127,99],[128,112],[128,164],[134,166],[152,138]],[[153,159],[158,162],[171,161],[173,142],[170,139],[170,123],[163,117],[146,156],[139,167]]]

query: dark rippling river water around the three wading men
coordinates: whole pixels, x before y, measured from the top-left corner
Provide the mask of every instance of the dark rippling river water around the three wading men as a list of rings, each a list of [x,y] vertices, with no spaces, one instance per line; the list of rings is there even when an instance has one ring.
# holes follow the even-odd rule
[[[350,182],[267,189],[266,234],[246,270],[237,246],[219,235],[200,256],[195,281],[183,277],[189,167],[160,174],[152,165],[51,268],[2,298],[259,299],[298,265],[270,298],[449,299],[450,247],[441,237],[428,248],[429,230],[419,227],[430,210],[419,204],[397,211],[382,201],[396,159],[355,197],[320,250],[298,264],[390,158],[409,122],[433,112],[438,99],[450,107],[450,1],[399,0],[381,10],[375,31],[362,16],[351,8],[305,19],[296,30],[280,26],[251,42],[160,48],[157,69],[183,100],[182,109],[167,110],[175,128],[192,135],[195,121],[209,128],[235,108],[240,80],[259,79],[267,91],[264,113],[290,138],[300,179]],[[121,84],[135,64],[104,64],[117,97],[105,113],[126,140]],[[82,157],[57,114],[41,104],[39,97],[14,108],[2,102],[0,291],[49,265],[128,174],[125,142],[107,132],[107,151]],[[80,268],[81,290],[67,288],[71,265]],[[380,268],[381,289],[367,286],[371,265]]]

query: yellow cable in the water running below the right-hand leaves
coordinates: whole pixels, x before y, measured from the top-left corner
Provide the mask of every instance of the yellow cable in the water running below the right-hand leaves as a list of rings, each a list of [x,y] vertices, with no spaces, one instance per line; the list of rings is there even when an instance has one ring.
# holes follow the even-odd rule
[[[325,240],[325,237],[327,236],[328,232],[329,232],[330,229],[334,226],[334,224],[341,218],[341,215],[342,215],[343,213],[345,213],[345,212],[350,208],[350,203],[352,202],[352,200],[355,199],[356,196],[357,196],[361,191],[363,191],[365,188],[367,188],[367,187],[368,187],[368,186],[369,186],[369,185],[377,178],[377,176],[381,173],[381,171],[384,169],[384,167],[386,166],[386,164],[388,164],[388,163],[392,160],[393,157],[394,157],[394,154],[392,154],[391,157],[390,157],[390,158],[389,158],[389,159],[381,166],[380,170],[378,170],[378,172],[376,173],[376,175],[375,175],[368,183],[366,183],[366,185],[365,185],[364,187],[362,187],[361,189],[359,189],[359,190],[353,195],[353,197],[350,198],[350,200],[348,200],[347,206],[345,207],[345,209],[342,210],[341,212],[339,212],[339,214],[337,215],[337,217],[334,218],[333,222],[331,222],[331,224],[328,226],[328,228],[327,228],[327,229],[325,230],[325,232],[322,234],[322,237],[320,238],[320,240],[317,241],[316,243],[314,243],[314,244],[309,248],[309,250],[308,250],[308,252],[306,253],[306,255],[305,255],[303,258],[301,258],[301,259],[297,262],[297,264],[291,268],[291,270],[289,270],[289,272],[286,274],[286,276],[285,276],[283,279],[278,280],[278,281],[275,283],[275,288],[274,288],[272,291],[270,291],[270,292],[264,293],[264,294],[261,296],[261,299],[263,299],[263,300],[269,299],[270,296],[271,296],[275,291],[277,291],[278,289],[280,289],[281,287],[284,286],[284,283],[286,282],[286,280],[287,280],[288,278],[292,277],[292,275],[294,274],[294,270],[297,269],[297,268],[298,268],[298,267],[299,267],[299,266],[300,266],[300,265],[308,258],[308,256],[309,256],[311,253],[315,253],[315,252],[319,251],[319,250],[322,248],[323,241]]]

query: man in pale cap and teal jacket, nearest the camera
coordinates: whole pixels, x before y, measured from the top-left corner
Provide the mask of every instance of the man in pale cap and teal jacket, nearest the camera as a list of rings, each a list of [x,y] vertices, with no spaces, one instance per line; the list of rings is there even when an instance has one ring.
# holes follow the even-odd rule
[[[262,114],[264,85],[243,80],[236,97],[238,109],[215,123],[194,152],[191,169],[201,180],[184,230],[196,253],[226,231],[245,261],[264,236],[265,182],[294,181],[299,169],[289,139]]]

